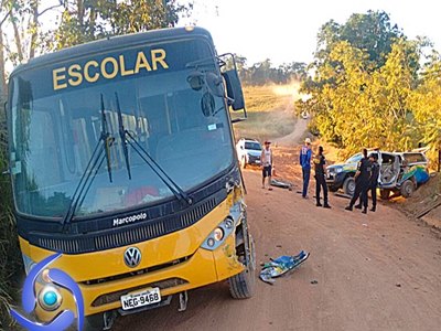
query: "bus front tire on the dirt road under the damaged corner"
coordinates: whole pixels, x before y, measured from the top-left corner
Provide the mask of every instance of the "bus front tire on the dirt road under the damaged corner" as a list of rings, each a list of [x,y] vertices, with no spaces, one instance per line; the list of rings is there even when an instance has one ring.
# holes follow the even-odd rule
[[[255,242],[251,236],[249,236],[250,252],[246,253],[249,255],[249,265],[247,268],[238,275],[235,275],[228,279],[229,293],[234,299],[248,299],[251,298],[256,286],[256,252]]]

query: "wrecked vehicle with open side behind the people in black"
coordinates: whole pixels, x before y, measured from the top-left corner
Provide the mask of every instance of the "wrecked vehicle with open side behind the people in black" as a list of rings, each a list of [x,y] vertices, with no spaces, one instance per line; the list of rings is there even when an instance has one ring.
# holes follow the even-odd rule
[[[378,188],[380,189],[381,199],[388,199],[391,192],[409,197],[419,184],[429,180],[428,159],[424,152],[372,150],[368,156],[372,154],[378,157],[378,163],[380,164]],[[336,192],[338,189],[343,189],[345,194],[354,194],[354,175],[361,159],[362,153],[356,153],[344,163],[327,167],[326,183],[330,191]]]

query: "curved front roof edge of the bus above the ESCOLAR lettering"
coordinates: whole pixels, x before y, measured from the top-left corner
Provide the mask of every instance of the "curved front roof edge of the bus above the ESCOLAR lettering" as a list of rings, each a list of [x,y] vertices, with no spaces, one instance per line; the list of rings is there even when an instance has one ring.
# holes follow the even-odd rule
[[[28,63],[17,66],[10,76],[17,75],[20,72],[28,71],[30,68],[44,66],[60,61],[74,60],[87,54],[104,53],[116,49],[136,46],[154,41],[182,39],[189,35],[206,38],[209,43],[213,43],[209,32],[203,28],[196,26],[159,29],[148,32],[109,36],[31,58]]]

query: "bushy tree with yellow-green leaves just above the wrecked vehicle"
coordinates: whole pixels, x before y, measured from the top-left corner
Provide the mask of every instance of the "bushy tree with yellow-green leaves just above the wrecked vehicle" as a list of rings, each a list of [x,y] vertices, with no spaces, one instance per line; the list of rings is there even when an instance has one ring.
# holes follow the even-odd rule
[[[300,111],[312,110],[316,130],[346,153],[361,147],[416,147],[421,134],[410,100],[419,82],[415,72],[421,53],[418,44],[398,39],[385,64],[373,68],[367,51],[347,41],[335,43],[329,61],[303,84],[303,88],[311,84],[312,98],[299,102]]]

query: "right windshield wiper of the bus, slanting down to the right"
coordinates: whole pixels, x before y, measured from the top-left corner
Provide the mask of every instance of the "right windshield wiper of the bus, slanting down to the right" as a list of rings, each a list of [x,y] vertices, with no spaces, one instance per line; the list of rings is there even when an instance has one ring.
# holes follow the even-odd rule
[[[117,98],[117,111],[118,111],[118,126],[119,126],[119,136],[122,141],[122,146],[125,148],[123,153],[126,158],[126,167],[129,173],[129,179],[131,178],[130,174],[130,166],[129,166],[129,158],[127,151],[127,142],[133,148],[133,150],[138,153],[138,156],[146,162],[147,166],[158,175],[158,178],[169,188],[169,190],[176,196],[179,201],[185,201],[186,204],[192,204],[192,199],[178,185],[175,181],[173,181],[166,172],[158,164],[157,161],[148,153],[148,151],[135,139],[135,137],[125,129],[122,124],[122,115],[121,108],[119,107],[118,94],[115,93]],[[130,138],[130,139],[127,139]],[[133,145],[135,142],[135,145]]]

